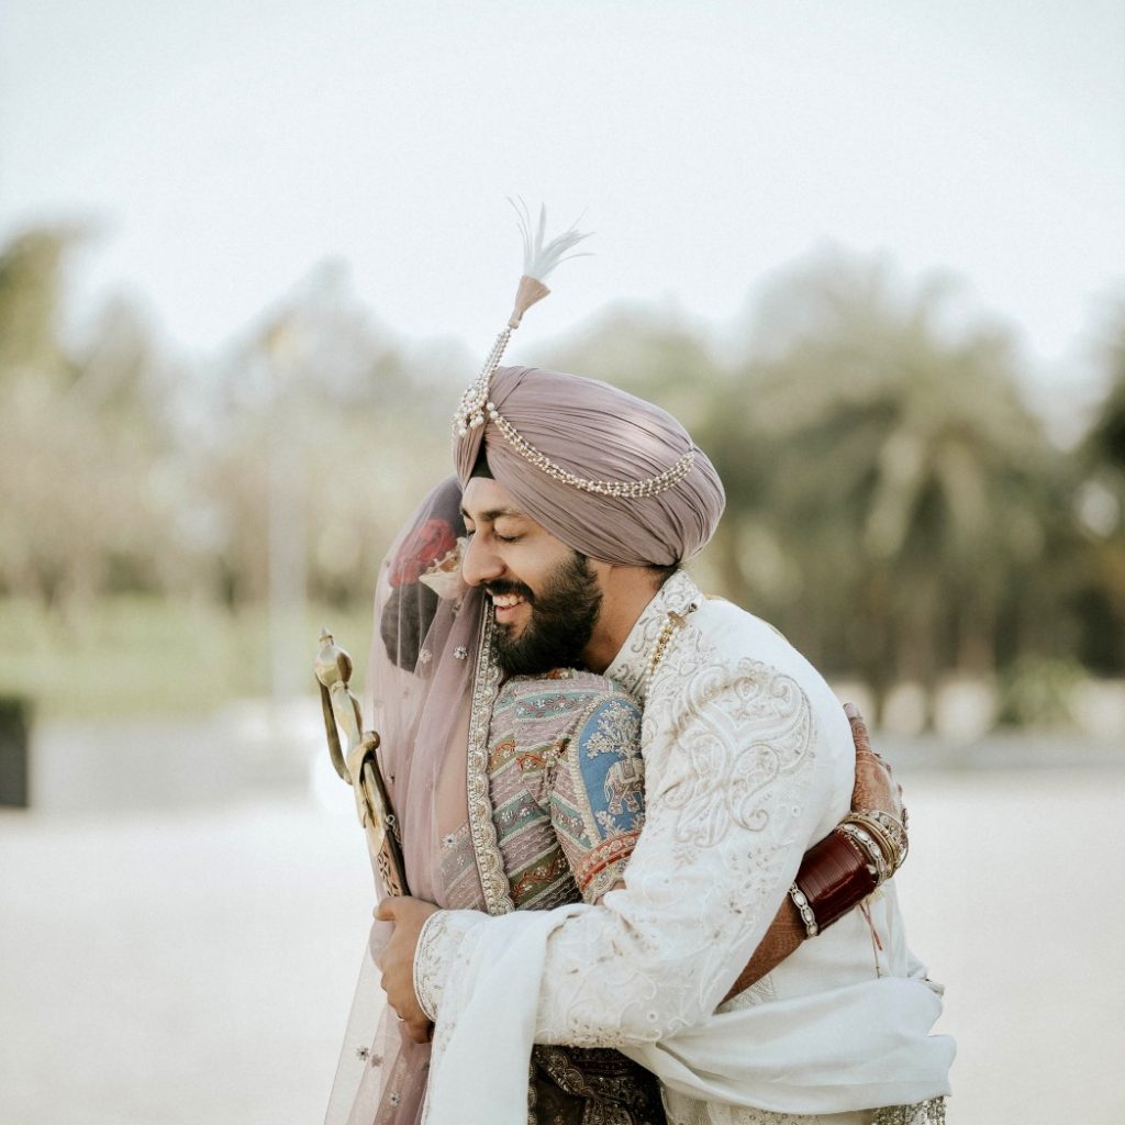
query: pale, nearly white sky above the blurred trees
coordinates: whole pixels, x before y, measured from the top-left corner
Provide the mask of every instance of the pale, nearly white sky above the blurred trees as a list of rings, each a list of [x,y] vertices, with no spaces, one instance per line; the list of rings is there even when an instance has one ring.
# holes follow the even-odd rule
[[[619,299],[729,328],[827,241],[964,277],[1070,396],[1125,280],[1125,4],[0,4],[0,237],[98,220],[80,310],[125,288],[205,353],[340,258],[483,353],[508,195],[596,232],[513,358]]]

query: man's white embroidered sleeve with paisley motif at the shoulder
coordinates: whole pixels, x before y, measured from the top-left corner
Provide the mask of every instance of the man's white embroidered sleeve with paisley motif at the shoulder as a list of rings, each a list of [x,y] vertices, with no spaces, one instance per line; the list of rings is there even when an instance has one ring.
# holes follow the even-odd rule
[[[717,659],[695,630],[652,677],[641,744],[645,831],[627,886],[551,934],[537,1042],[620,1047],[702,1024],[762,940],[831,801],[796,681]],[[442,955],[426,972],[449,971],[452,954]]]

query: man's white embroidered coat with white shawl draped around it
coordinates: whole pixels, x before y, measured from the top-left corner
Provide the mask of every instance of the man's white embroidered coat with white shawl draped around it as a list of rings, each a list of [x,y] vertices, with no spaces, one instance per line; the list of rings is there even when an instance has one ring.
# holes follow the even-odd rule
[[[683,622],[670,634],[669,611]],[[906,947],[892,885],[870,902],[878,940],[852,911],[719,1008],[802,855],[849,808],[850,728],[821,676],[682,573],[606,674],[645,709],[647,817],[627,888],[554,921],[434,915],[415,984],[436,1017],[435,1053],[471,1058],[471,1036],[487,1034],[474,1019],[495,1028],[495,997],[485,1011],[474,990],[479,1004],[478,986],[504,965],[510,990],[539,990],[524,1014],[536,1042],[623,1050],[662,1078],[676,1125],[803,1114],[843,1125],[947,1092],[952,1042],[928,1035],[937,990]]]

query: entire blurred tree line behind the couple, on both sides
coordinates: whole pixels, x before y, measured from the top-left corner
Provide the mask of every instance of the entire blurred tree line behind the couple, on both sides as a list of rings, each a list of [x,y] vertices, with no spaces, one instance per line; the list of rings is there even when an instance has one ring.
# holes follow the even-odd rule
[[[119,299],[75,336],[83,238],[32,230],[0,252],[0,596],[72,622],[115,593],[366,602],[449,465],[479,359],[407,350],[331,267],[207,362],[170,356]],[[712,586],[876,706],[951,674],[1125,675],[1125,304],[1109,392],[1069,450],[1024,404],[1008,331],[878,263],[791,272],[728,352],[634,310],[543,357],[659,402],[713,457]]]

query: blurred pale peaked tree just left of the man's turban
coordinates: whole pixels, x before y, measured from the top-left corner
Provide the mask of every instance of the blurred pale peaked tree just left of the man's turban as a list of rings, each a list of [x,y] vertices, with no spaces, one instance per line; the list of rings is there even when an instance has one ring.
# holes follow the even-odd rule
[[[332,269],[226,358],[195,483],[212,513],[200,546],[228,604],[267,596],[278,519],[292,525],[274,536],[299,537],[312,596],[370,598],[392,537],[450,471],[456,395],[434,393],[429,359],[405,356]]]

